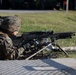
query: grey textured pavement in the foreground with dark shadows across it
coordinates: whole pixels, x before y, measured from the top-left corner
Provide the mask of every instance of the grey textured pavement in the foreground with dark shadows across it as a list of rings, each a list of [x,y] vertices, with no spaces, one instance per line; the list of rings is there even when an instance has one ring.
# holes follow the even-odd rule
[[[0,61],[0,75],[76,75],[76,59]]]

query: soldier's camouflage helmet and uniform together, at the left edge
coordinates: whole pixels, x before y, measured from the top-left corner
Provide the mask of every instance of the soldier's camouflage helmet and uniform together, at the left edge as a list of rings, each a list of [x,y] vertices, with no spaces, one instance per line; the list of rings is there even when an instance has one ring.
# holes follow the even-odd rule
[[[7,16],[2,20],[0,25],[0,60],[17,58],[17,49],[13,46],[13,42],[9,33],[19,31],[21,20],[16,16]]]

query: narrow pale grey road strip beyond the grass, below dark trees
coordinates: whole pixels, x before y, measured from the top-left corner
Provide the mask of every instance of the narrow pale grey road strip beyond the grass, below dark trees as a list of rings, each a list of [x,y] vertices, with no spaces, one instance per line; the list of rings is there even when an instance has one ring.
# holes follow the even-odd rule
[[[1,13],[47,13],[47,12],[60,12],[53,10],[0,10]]]

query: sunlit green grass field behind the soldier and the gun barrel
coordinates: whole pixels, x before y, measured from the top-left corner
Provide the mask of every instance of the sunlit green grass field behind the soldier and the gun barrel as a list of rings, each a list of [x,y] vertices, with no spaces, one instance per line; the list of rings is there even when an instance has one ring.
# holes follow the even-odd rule
[[[20,33],[28,31],[75,32],[76,11],[49,12],[49,13],[0,13],[0,16],[18,15],[22,20]],[[73,39],[58,40],[61,46],[76,46],[76,37]]]

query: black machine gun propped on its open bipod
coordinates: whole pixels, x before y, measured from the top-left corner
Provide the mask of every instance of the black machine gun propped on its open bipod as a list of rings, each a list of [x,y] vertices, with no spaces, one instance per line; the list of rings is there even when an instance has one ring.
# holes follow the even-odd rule
[[[53,31],[37,31],[37,32],[25,32],[21,36],[17,37],[20,40],[17,43],[17,48],[24,48],[23,55],[28,55],[25,59],[31,59],[41,51],[49,48],[54,51],[62,51],[68,56],[68,53],[63,50],[57,43],[56,40],[72,38],[75,32],[63,32],[54,33]],[[27,52],[27,53],[26,53]],[[29,54],[28,54],[29,53]]]

